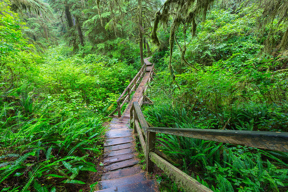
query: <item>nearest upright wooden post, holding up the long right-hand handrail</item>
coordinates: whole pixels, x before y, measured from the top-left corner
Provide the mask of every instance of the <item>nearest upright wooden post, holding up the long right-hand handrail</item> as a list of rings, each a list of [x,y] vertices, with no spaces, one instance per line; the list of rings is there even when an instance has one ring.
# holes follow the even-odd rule
[[[153,172],[154,163],[149,158],[149,153],[155,151],[156,132],[147,131],[146,138],[146,169],[148,172]]]

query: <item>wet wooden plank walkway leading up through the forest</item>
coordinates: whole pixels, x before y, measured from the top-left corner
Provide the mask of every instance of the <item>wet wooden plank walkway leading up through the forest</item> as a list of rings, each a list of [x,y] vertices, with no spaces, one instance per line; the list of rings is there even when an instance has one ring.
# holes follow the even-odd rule
[[[109,124],[104,143],[104,171],[99,190],[105,192],[141,192],[158,191],[154,180],[146,177],[135,158],[135,143],[133,141],[133,132],[130,127],[130,109],[133,102],[140,105],[143,100],[143,91],[149,81],[149,72],[152,70],[152,64],[148,58],[144,60],[147,70],[142,78],[137,90],[135,91],[131,102],[128,104],[120,118],[113,118]]]

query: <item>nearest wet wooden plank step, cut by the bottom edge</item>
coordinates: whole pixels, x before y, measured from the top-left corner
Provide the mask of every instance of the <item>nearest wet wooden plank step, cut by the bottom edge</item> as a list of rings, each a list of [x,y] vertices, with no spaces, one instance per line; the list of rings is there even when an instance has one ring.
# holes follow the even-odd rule
[[[109,189],[98,190],[99,192],[154,192],[157,191],[157,187],[153,180],[141,181],[128,185],[114,186]]]

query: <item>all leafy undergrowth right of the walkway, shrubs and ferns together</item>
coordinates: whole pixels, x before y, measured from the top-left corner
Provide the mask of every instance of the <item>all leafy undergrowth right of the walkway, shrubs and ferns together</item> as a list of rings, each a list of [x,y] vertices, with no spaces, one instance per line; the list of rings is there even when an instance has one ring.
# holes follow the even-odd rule
[[[144,111],[152,126],[288,131],[287,55],[264,53],[265,37],[259,39],[255,32],[258,13],[216,4],[207,20],[198,22],[195,37],[178,30],[177,43],[183,46],[186,38],[186,60],[197,70],[180,62],[176,45],[172,70],[166,70],[168,52],[153,55],[159,72],[147,94],[155,105]],[[213,191],[288,190],[287,153],[161,134],[157,138],[159,150]],[[166,176],[158,181],[163,191],[180,190]]]

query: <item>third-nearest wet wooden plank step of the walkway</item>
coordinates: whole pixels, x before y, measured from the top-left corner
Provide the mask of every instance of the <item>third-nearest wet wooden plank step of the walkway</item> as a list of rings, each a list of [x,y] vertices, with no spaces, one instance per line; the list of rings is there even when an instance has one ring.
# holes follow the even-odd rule
[[[102,175],[101,180],[103,181],[103,180],[117,179],[120,177],[131,176],[134,174],[138,174],[141,171],[142,169],[139,166],[133,166],[129,168],[114,170],[114,171],[108,172],[107,174]]]

